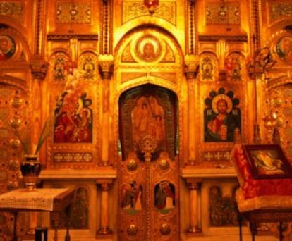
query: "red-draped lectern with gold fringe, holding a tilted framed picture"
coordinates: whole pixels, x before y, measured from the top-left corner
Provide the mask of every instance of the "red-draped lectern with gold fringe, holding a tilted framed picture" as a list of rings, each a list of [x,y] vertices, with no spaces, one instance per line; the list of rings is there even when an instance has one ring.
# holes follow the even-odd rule
[[[261,222],[279,223],[279,240],[283,240],[282,222],[292,221],[292,167],[283,150],[275,144],[235,144],[231,161],[239,183],[239,215],[250,222],[252,240],[256,223]]]

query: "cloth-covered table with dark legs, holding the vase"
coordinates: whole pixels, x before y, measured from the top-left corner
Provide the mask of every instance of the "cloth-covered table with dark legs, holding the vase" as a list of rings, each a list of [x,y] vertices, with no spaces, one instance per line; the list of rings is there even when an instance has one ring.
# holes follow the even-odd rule
[[[32,191],[17,189],[0,195],[0,211],[14,214],[13,241],[17,241],[17,214],[19,211],[49,211],[57,240],[61,213],[74,197],[74,190],[68,188],[37,188]],[[70,240],[67,228],[67,237]]]

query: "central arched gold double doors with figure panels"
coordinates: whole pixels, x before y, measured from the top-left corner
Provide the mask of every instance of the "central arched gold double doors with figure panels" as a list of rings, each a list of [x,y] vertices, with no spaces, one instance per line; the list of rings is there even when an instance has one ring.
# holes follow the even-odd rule
[[[120,121],[118,240],[179,240],[176,98],[138,87],[121,97]]]

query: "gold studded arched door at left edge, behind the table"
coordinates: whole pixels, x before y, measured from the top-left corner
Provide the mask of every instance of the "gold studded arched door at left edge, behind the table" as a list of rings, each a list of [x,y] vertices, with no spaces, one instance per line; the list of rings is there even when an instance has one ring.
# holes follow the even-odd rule
[[[28,95],[13,85],[0,84],[0,193],[23,186],[20,163],[30,142],[30,102]],[[13,215],[0,214],[0,240],[13,233]],[[18,216],[18,235],[25,232],[23,214]]]

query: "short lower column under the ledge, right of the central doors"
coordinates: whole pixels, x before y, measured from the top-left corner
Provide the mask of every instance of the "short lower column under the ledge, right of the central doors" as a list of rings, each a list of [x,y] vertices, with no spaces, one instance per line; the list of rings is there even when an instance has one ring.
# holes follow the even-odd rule
[[[185,179],[188,189],[190,190],[190,228],[188,234],[202,234],[202,230],[198,227],[198,208],[197,208],[197,190],[200,188],[202,180],[197,178]]]

